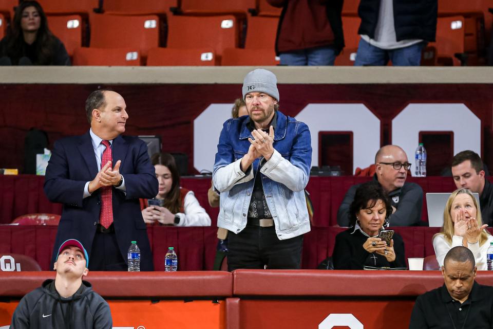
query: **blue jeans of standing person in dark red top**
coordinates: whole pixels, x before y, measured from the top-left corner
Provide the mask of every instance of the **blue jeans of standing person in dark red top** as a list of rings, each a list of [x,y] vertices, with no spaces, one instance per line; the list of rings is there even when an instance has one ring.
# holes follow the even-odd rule
[[[279,57],[281,65],[326,66],[334,65],[336,51],[334,47],[317,47],[283,52]]]

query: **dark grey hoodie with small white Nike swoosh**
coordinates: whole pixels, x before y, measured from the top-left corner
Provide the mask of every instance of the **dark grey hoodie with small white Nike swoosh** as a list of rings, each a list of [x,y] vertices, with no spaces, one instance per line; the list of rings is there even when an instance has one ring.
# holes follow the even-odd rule
[[[108,303],[82,281],[71,297],[61,297],[54,280],[24,296],[15,309],[11,329],[111,329],[113,322]]]

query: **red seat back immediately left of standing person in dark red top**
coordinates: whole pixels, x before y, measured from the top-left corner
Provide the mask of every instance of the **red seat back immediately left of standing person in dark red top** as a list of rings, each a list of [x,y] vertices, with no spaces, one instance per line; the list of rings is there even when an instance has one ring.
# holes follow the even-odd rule
[[[279,17],[249,17],[245,48],[275,49]]]

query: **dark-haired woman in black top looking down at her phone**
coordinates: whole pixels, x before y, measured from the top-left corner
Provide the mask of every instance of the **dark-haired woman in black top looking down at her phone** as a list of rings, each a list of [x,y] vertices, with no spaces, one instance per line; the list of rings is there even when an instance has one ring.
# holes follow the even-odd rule
[[[357,188],[349,213],[349,229],[335,237],[335,269],[406,266],[402,237],[395,233],[390,245],[378,237],[392,213],[390,199],[378,182],[372,180]]]

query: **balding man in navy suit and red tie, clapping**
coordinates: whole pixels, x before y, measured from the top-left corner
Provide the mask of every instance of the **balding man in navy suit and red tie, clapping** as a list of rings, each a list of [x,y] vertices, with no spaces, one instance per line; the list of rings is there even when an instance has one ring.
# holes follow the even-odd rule
[[[90,130],[56,141],[46,168],[45,193],[51,202],[63,204],[54,245],[77,239],[87,246],[90,270],[127,270],[128,247],[137,241],[140,269],[153,270],[139,204],[139,198],[158,194],[147,146],[121,136],[128,114],[118,93],[91,93],[86,116]],[[52,263],[56,256],[53,250]]]

